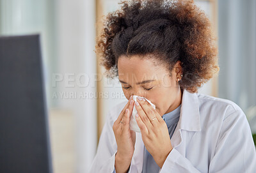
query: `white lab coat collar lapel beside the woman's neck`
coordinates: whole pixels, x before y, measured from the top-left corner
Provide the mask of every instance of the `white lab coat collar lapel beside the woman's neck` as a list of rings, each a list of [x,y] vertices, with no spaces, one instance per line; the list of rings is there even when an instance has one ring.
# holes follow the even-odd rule
[[[201,131],[197,93],[189,93],[184,89],[177,128],[194,132]]]

